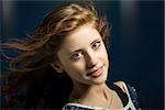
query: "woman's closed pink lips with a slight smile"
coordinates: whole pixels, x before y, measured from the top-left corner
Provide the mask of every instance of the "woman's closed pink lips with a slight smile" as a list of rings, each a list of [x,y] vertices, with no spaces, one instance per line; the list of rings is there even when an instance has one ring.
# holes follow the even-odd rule
[[[87,74],[87,76],[96,78],[96,77],[99,77],[102,74],[102,72],[103,72],[103,68],[101,66],[100,68],[95,69],[95,70],[90,72],[89,74]]]

